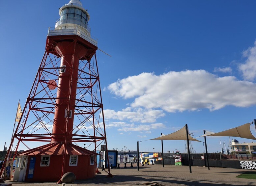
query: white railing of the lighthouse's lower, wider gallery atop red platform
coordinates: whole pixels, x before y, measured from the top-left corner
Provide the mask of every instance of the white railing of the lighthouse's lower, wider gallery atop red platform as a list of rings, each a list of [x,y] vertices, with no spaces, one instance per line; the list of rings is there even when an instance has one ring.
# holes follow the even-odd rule
[[[97,46],[97,43],[98,43],[96,38],[86,35],[86,33],[80,30],[78,27],[73,29],[56,29],[55,27],[49,27],[47,36],[58,36],[58,35],[77,35],[87,40],[88,42],[92,43],[95,46]]]

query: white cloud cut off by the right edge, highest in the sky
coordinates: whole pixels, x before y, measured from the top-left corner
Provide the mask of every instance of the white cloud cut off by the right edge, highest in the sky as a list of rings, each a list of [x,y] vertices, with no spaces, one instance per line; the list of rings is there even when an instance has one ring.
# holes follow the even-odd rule
[[[244,64],[239,66],[242,71],[243,78],[246,80],[254,80],[256,77],[256,41],[253,47],[249,47],[243,51],[243,57],[246,57]]]

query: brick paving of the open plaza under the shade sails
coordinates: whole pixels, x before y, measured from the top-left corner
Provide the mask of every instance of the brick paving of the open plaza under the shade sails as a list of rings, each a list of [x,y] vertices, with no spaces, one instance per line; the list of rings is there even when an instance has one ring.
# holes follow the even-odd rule
[[[140,165],[137,167],[125,169],[124,164],[120,165],[121,169],[112,169],[111,174],[114,178],[106,178],[107,173],[97,174],[95,178],[76,181],[72,186],[93,186],[93,185],[158,185],[158,186],[216,186],[216,185],[256,185],[256,180],[236,178],[236,176],[251,170],[245,169],[228,169],[211,167],[192,166],[192,173],[189,173],[188,166],[175,165]],[[253,170],[256,172],[256,170]],[[61,186],[56,183],[12,183],[13,186]]]

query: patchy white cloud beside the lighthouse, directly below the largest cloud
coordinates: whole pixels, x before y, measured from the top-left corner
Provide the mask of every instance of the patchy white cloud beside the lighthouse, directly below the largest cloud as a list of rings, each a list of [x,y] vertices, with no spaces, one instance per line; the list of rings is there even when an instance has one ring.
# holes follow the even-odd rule
[[[104,110],[105,119],[129,120],[130,122],[155,122],[157,118],[165,116],[162,110],[127,107],[121,111]]]

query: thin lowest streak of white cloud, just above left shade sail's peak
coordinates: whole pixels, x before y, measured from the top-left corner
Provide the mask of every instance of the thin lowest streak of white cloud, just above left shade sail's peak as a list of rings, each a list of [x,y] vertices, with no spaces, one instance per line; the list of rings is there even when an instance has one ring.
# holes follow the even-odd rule
[[[122,127],[117,130],[124,131],[124,132],[127,132],[127,131],[136,131],[136,132],[145,131],[146,132],[146,131],[151,131],[154,129],[164,128],[164,127],[165,127],[165,125],[163,123],[153,123],[150,125],[137,125],[137,126],[133,126],[133,127]]]

